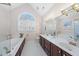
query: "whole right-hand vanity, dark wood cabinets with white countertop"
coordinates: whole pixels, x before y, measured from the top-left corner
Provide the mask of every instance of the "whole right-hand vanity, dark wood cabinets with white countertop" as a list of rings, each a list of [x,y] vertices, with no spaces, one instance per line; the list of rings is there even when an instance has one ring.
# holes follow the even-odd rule
[[[60,38],[59,38],[60,39]],[[72,46],[62,38],[59,40],[56,37],[40,35],[40,45],[48,56],[78,56],[79,48]]]

